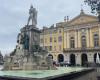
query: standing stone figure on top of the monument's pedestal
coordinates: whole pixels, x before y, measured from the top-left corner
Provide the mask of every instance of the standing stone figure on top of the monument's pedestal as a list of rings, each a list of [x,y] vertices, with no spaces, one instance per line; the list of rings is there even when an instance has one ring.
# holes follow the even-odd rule
[[[33,8],[33,6],[31,5],[30,9],[29,9],[29,18],[28,18],[28,22],[27,25],[29,25],[29,22],[32,20],[32,25],[36,25],[37,24],[37,11],[35,8]]]

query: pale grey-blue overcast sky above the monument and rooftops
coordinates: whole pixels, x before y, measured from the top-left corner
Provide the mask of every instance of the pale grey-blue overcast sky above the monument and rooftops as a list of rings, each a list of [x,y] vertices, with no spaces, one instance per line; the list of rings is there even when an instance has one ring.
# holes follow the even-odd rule
[[[84,0],[0,0],[0,50],[10,53],[16,46],[17,34],[28,19],[28,10],[33,4],[38,11],[38,28],[61,22],[64,16],[79,15]],[[90,8],[83,5],[84,12]]]

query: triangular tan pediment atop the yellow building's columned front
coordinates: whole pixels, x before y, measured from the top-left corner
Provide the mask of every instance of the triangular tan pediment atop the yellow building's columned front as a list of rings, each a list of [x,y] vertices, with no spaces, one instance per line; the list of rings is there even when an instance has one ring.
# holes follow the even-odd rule
[[[77,25],[77,24],[84,24],[89,22],[95,22],[98,21],[98,18],[96,16],[87,15],[85,13],[78,15],[74,19],[72,19],[69,24],[70,25]]]

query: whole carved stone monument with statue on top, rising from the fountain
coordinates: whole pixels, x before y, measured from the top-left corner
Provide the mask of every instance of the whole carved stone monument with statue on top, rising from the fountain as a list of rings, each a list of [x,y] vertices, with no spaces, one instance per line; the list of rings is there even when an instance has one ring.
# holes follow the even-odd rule
[[[27,25],[18,34],[16,49],[5,58],[4,70],[56,69],[52,58],[47,56],[48,51],[40,47],[40,30],[36,24],[37,11],[31,6]]]

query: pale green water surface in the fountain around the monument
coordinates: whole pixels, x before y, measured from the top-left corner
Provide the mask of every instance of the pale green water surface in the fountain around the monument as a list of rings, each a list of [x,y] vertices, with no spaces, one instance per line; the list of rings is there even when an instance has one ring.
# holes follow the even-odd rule
[[[58,67],[57,70],[33,70],[33,71],[0,71],[0,76],[16,76],[29,78],[45,78],[50,76],[61,75],[74,71],[80,71],[85,68]]]

